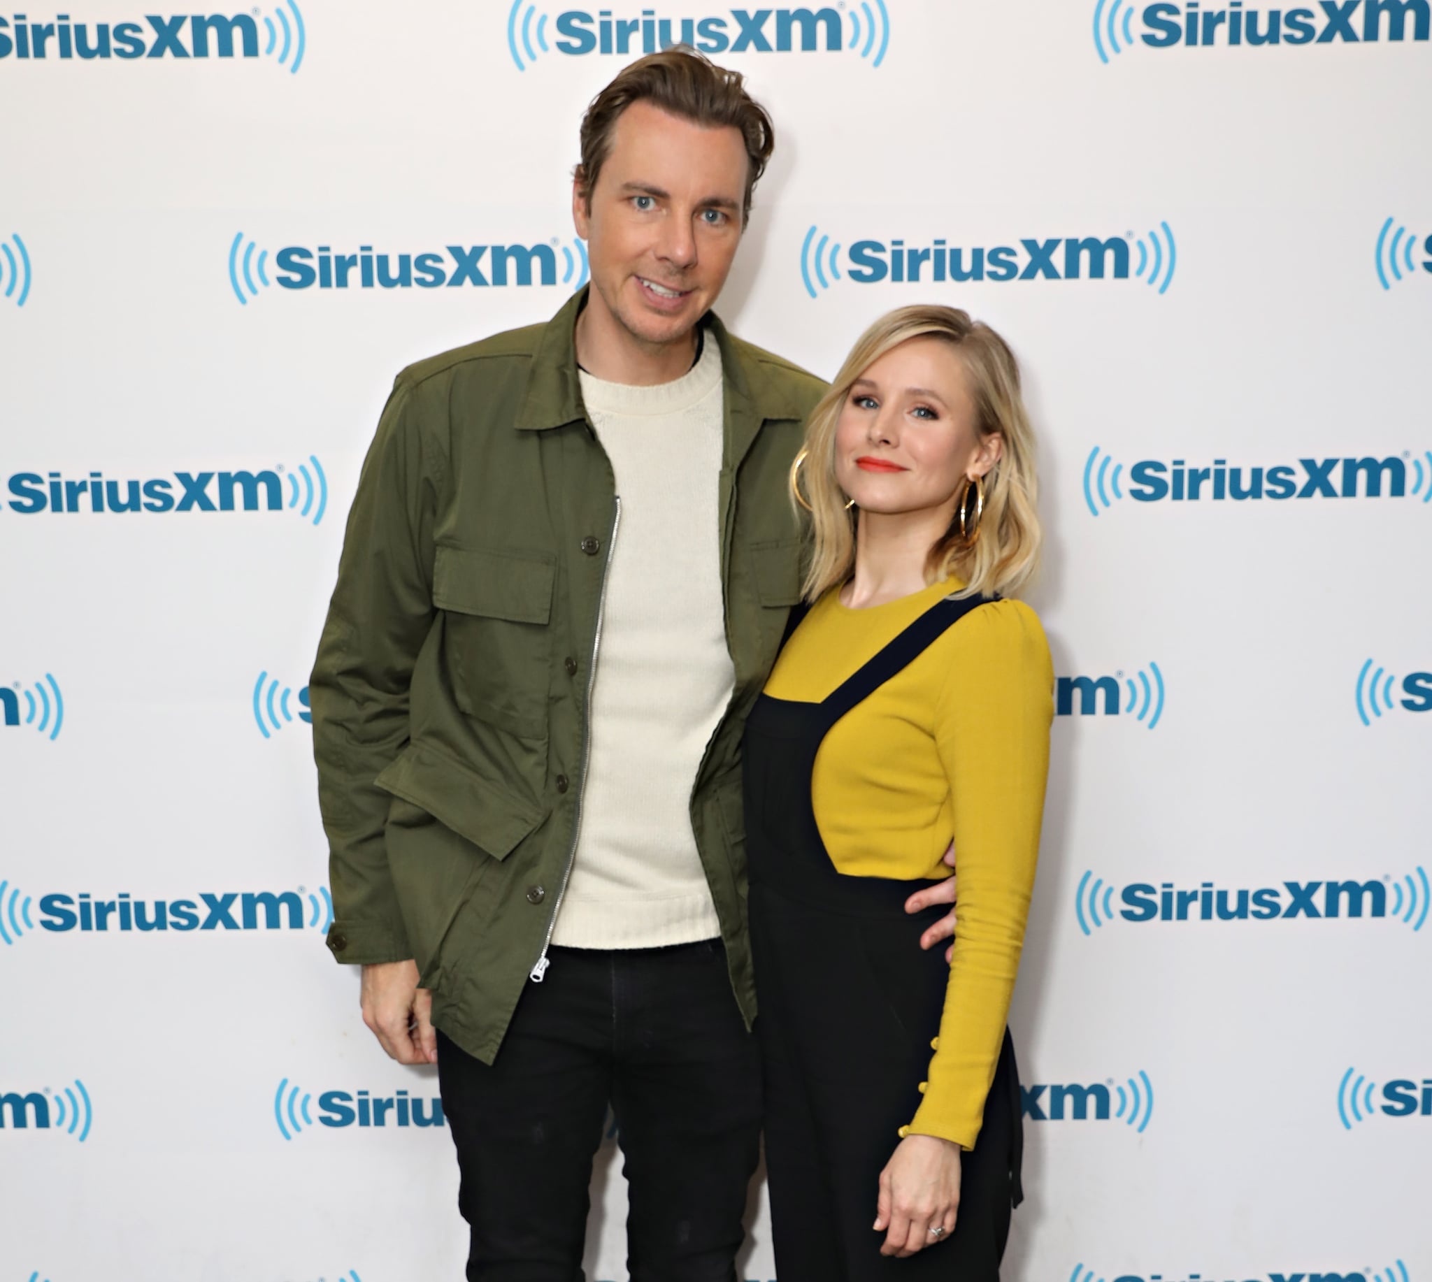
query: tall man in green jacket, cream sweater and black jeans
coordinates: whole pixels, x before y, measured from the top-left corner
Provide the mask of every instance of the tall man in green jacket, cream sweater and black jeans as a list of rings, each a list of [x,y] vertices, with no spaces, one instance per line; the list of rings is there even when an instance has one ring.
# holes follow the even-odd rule
[[[735,1278],[739,744],[799,600],[786,476],[823,391],[709,313],[772,145],[697,54],[621,72],[573,182],[590,289],[404,371],[349,517],[309,687],[328,946],[384,1049],[438,1065],[470,1279],[581,1276],[609,1103],[632,1278]]]

